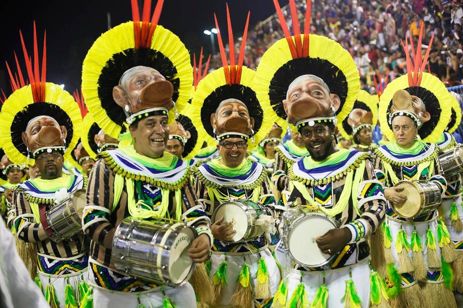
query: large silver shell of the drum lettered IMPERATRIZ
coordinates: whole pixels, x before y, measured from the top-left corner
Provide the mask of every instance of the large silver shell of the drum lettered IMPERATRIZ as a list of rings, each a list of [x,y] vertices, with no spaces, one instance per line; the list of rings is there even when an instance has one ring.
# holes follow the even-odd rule
[[[144,221],[133,218],[124,219],[117,227],[112,245],[112,257],[117,269],[127,275],[140,277],[170,286],[185,284],[194,270],[194,263],[188,275],[179,283],[171,281],[169,274],[169,260],[171,247],[176,236],[184,228],[190,228],[194,237],[196,230],[185,224],[170,224],[167,221]],[[163,240],[164,245],[161,245]],[[161,264],[158,257],[161,254]],[[161,271],[161,275],[159,274]]]

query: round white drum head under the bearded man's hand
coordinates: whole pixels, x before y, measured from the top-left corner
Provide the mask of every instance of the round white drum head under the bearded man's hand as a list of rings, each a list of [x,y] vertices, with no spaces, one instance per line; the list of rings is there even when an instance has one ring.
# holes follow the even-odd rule
[[[331,220],[324,215],[308,214],[291,227],[288,246],[294,260],[307,266],[321,266],[330,260],[331,256],[324,254],[315,240],[336,228]]]

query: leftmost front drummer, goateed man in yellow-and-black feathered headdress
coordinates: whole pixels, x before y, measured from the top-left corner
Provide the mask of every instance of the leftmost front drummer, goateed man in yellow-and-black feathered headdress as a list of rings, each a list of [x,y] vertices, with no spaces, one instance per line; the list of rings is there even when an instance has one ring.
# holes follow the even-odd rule
[[[35,45],[34,49],[37,47]],[[10,112],[2,114],[0,138],[13,162],[35,161],[41,178],[29,179],[16,187],[14,226],[20,240],[35,243],[36,282],[47,294],[50,306],[64,307],[67,302],[78,305],[85,295],[82,290],[86,289],[84,273],[88,265],[83,234],[62,241],[53,240],[55,234],[46,213],[73,190],[86,187],[82,176],[62,174],[63,154],[69,155],[79,139],[75,132],[80,131],[82,119],[79,106],[69,93],[57,84],[45,83],[38,70],[32,75],[32,61],[24,43],[23,50],[31,85],[18,88],[5,101],[3,110]],[[35,55],[34,62],[45,63],[45,60],[42,62]],[[43,71],[45,69],[42,67]]]

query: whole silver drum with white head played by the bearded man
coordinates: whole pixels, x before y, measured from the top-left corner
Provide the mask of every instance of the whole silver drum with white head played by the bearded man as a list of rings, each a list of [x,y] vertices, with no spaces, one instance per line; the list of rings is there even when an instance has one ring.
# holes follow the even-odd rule
[[[283,214],[281,240],[291,258],[299,264],[318,267],[329,263],[334,255],[323,253],[316,239],[338,228],[330,216],[318,212],[291,209]]]

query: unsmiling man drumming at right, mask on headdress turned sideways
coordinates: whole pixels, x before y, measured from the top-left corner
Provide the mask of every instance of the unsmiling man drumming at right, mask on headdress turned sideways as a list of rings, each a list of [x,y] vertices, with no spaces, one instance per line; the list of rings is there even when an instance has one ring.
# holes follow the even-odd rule
[[[413,55],[417,57],[421,54]],[[387,279],[391,293],[397,294],[394,301],[398,306],[416,306],[416,298],[420,298],[426,307],[452,307],[456,304],[449,289],[452,270],[448,263],[454,253],[445,224],[436,210],[420,214],[417,207],[418,214],[410,219],[394,211],[395,206],[412,209],[409,201],[413,200],[407,199],[402,187],[395,187],[401,180],[431,181],[439,187],[439,194],[447,188],[434,142],[448,125],[448,93],[433,75],[415,75],[418,68],[415,70],[409,57],[407,61],[410,72],[389,83],[379,101],[381,131],[391,140],[375,151],[375,171],[390,202],[383,229],[382,263],[387,264]],[[424,293],[426,296],[421,296]]]

